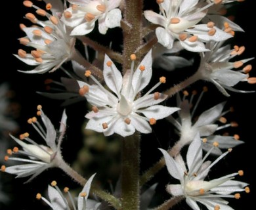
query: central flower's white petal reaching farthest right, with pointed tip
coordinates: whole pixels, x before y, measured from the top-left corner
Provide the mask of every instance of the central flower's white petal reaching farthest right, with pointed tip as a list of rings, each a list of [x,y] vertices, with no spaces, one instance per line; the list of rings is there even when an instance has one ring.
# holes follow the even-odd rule
[[[144,116],[148,118],[163,119],[164,117],[173,114],[173,112],[176,112],[177,110],[180,110],[180,108],[156,105],[150,106],[144,110],[137,110],[137,112],[144,114]]]

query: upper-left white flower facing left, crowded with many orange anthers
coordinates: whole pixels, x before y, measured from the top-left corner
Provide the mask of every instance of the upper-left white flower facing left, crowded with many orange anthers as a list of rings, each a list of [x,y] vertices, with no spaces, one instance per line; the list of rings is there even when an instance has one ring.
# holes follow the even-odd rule
[[[28,47],[33,47],[35,50],[31,51],[31,53],[26,53],[26,51],[20,49],[18,50],[18,54],[14,54],[14,56],[28,65],[36,67],[33,70],[20,72],[30,74],[54,72],[64,62],[72,58],[75,39],[74,37],[70,37],[68,31],[66,31],[66,27],[59,20],[58,16],[53,16],[43,11],[30,1],[25,2],[27,7],[34,7],[37,9],[37,14],[46,16],[49,20],[41,21],[32,13],[26,14],[26,18],[37,25],[32,27],[22,25],[22,30],[26,33],[26,37],[20,38],[20,43]]]

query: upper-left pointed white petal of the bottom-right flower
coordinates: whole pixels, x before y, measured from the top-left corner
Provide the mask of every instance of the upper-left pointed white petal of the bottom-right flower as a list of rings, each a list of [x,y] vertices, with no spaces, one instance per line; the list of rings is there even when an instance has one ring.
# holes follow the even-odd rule
[[[169,174],[175,179],[182,180],[184,175],[184,171],[182,170],[182,168],[179,165],[177,165],[175,160],[171,158],[168,152],[161,148],[159,148],[159,150],[162,152],[165,158],[165,165],[167,167],[167,170],[169,171]]]

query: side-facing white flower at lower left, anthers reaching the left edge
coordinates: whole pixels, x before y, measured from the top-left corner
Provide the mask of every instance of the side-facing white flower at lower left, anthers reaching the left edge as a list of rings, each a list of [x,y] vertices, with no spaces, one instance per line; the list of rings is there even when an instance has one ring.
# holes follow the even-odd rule
[[[28,123],[31,123],[33,125],[34,129],[43,138],[47,146],[37,144],[37,142],[35,142],[29,137],[28,133],[20,135],[21,140],[11,135],[11,137],[18,144],[20,144],[20,146],[22,146],[23,150],[18,150],[17,147],[14,147],[12,151],[7,150],[9,156],[5,156],[5,160],[11,159],[14,161],[25,162],[25,164],[13,165],[10,167],[5,167],[3,165],[1,168],[1,171],[17,175],[16,177],[28,177],[32,175],[32,177],[28,181],[32,180],[37,175],[45,171],[45,169],[58,166],[58,159],[62,159],[60,144],[62,142],[62,138],[66,130],[66,112],[63,112],[62,114],[62,120],[59,129],[60,136],[57,138],[53,124],[51,123],[50,119],[47,116],[45,116],[43,110],[41,110],[40,105],[37,106],[37,110],[37,115],[41,117],[46,131],[37,121],[36,117],[28,119]],[[30,144],[25,143],[25,140]],[[26,156],[26,158],[12,157],[15,154]]]

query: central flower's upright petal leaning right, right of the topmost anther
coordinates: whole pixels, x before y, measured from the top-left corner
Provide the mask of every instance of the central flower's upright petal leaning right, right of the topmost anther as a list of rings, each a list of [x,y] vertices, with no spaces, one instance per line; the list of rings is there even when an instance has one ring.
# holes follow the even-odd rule
[[[140,66],[144,66],[145,70],[141,72],[139,70]],[[141,77],[140,77],[140,74]],[[152,50],[150,50],[146,56],[142,59],[140,62],[138,68],[135,70],[135,73],[133,74],[133,90],[136,91],[135,94],[139,93],[148,83],[150,82],[150,79],[152,77]]]

